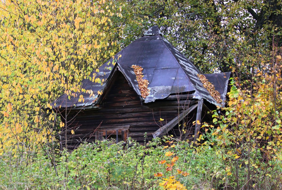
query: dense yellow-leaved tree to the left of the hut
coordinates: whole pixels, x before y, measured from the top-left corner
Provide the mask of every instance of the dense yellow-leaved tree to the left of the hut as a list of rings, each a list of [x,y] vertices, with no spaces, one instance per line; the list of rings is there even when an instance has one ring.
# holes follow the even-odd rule
[[[0,141],[15,151],[39,147],[56,125],[66,127],[50,103],[83,91],[80,81],[119,49],[109,44],[122,30],[112,27],[113,15],[121,16],[117,2],[37,2],[0,2]]]

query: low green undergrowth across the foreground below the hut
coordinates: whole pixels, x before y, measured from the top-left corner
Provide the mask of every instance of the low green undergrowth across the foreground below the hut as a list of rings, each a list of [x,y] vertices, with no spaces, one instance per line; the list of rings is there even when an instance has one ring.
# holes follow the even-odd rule
[[[160,145],[160,139],[145,145],[130,140],[130,147],[125,149],[121,143],[110,145],[109,141],[101,141],[98,145],[85,143],[71,153],[61,152],[56,158],[56,169],[46,153],[17,157],[7,152],[1,157],[0,187],[143,190],[163,189],[168,179],[173,179],[187,189],[236,187],[235,176],[230,175],[226,165],[226,159],[229,158],[216,153],[219,147],[210,146],[210,142],[194,147],[190,142],[175,141],[169,137],[162,141],[166,141],[168,147]],[[240,164],[238,172],[244,176],[246,165]],[[276,189],[279,189],[281,173],[281,161],[277,161],[274,168],[266,172],[267,180],[264,183],[271,185],[270,182],[276,180]],[[244,187],[244,184],[240,183],[240,186]],[[272,186],[265,187],[273,189]]]

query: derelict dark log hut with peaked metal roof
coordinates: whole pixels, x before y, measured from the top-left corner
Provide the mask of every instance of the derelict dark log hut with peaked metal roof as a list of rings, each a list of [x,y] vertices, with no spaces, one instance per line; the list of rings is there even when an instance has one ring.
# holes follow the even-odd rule
[[[144,143],[145,133],[147,141],[167,134],[195,140],[201,133],[199,122],[211,121],[207,111],[224,106],[230,77],[230,73],[200,74],[157,26],[98,70],[91,77],[103,82],[85,79],[82,87],[87,93],[70,99],[62,95],[53,102],[54,109],[68,112],[67,119],[61,114],[61,120],[68,122],[67,139],[65,131],[59,138],[62,146],[67,140],[69,149],[109,138],[131,137]],[[84,102],[78,101],[80,95]]]

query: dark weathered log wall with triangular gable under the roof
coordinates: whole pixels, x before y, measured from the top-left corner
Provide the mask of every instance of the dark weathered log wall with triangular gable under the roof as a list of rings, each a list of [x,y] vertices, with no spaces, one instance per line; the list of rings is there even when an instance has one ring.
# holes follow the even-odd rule
[[[152,92],[151,92],[152,93]],[[107,135],[115,135],[116,130],[128,129],[129,137],[139,143],[144,143],[144,133],[147,132],[147,140],[153,138],[160,126],[165,125],[182,113],[189,106],[187,99],[163,99],[144,104],[133,88],[128,84],[122,73],[118,72],[109,91],[104,94],[101,108],[70,110],[67,118],[67,144],[69,149],[76,148],[81,142],[95,141],[95,132],[107,130]],[[195,112],[192,113],[195,115]],[[160,118],[164,121],[160,122]],[[186,123],[191,120],[190,115],[184,118]],[[194,133],[192,125],[185,134],[185,139],[191,138]],[[74,130],[74,135],[71,134]],[[177,128],[173,129],[173,132]],[[179,130],[178,133],[179,134]],[[62,146],[65,145],[65,131],[59,135]],[[105,137],[104,137],[105,138]]]

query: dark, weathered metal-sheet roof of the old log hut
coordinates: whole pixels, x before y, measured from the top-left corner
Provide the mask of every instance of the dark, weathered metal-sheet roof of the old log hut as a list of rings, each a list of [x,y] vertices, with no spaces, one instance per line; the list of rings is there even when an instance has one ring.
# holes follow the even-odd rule
[[[121,57],[118,59],[118,57]],[[191,63],[180,51],[178,51],[171,43],[168,42],[160,32],[158,26],[153,26],[144,33],[144,36],[135,40],[122,51],[115,55],[117,67],[123,73],[127,81],[133,86],[136,93],[140,94],[138,82],[132,65],[142,67],[143,79],[149,81],[148,89],[150,94],[144,99],[145,103],[153,102],[156,99],[164,99],[169,94],[195,91],[194,98],[205,99],[208,102],[223,106],[227,93],[227,84],[230,77],[229,73],[205,74],[206,78],[215,85],[215,89],[221,94],[222,104],[219,105],[210,95],[208,90],[204,88],[201,80],[197,76],[199,70]],[[114,70],[113,58],[101,65],[99,73],[93,71],[91,77],[96,74],[96,77],[105,79],[102,85],[92,82],[88,79],[82,81],[83,88],[92,90],[94,94],[102,91],[105,84],[109,82],[109,77],[113,75]],[[111,67],[111,68],[110,68]],[[79,95],[82,94],[85,101],[78,102]],[[80,93],[77,97],[66,99],[65,95],[58,98],[55,107],[71,107],[71,106],[88,106],[95,103],[95,97],[89,97],[89,94]],[[67,100],[67,102],[65,102]],[[53,106],[54,103],[53,102]]]

